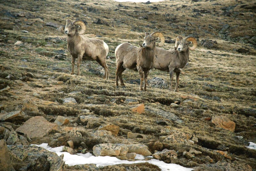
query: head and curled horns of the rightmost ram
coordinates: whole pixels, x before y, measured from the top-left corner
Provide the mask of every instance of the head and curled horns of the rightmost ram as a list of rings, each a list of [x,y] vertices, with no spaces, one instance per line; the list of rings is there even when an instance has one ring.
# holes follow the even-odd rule
[[[193,44],[193,46],[189,46],[190,44]],[[175,41],[175,46],[174,49],[179,52],[181,51],[186,51],[187,49],[189,50],[195,50],[197,46],[197,41],[194,37],[188,36],[185,39],[182,37],[178,36]]]

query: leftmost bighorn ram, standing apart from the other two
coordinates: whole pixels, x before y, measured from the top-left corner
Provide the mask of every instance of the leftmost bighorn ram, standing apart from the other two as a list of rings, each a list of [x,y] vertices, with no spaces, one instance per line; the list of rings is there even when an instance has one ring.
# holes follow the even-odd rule
[[[78,28],[81,28],[79,31]],[[108,45],[99,39],[88,39],[82,36],[86,26],[83,21],[76,20],[71,22],[67,19],[65,29],[60,27],[61,33],[67,34],[68,51],[72,56],[72,71],[74,74],[74,65],[77,58],[77,75],[80,75],[80,63],[83,60],[97,61],[105,70],[104,79],[108,79],[108,65],[106,56],[108,55]]]

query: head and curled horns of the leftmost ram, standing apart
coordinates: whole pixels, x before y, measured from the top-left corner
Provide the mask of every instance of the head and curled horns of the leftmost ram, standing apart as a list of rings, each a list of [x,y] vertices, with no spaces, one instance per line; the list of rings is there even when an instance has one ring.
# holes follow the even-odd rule
[[[79,28],[81,28],[80,31],[79,31]],[[76,20],[71,22],[70,19],[67,19],[65,29],[63,29],[63,27],[60,27],[61,33],[65,33],[68,35],[74,35],[75,33],[84,34],[85,30],[86,30],[86,26],[84,22],[81,20]]]

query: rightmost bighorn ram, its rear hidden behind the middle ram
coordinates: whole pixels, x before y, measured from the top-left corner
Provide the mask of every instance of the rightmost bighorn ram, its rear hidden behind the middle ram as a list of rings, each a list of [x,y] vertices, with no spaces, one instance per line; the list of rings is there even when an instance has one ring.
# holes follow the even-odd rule
[[[189,44],[193,43],[193,46]],[[176,73],[176,88],[179,92],[179,78],[180,69],[184,68],[189,59],[189,50],[195,50],[197,41],[194,37],[177,37],[174,50],[165,50],[163,48],[156,48],[156,61],[154,68],[160,71],[167,71],[170,73],[170,90],[172,89],[173,73]],[[178,50],[177,50],[178,49]]]

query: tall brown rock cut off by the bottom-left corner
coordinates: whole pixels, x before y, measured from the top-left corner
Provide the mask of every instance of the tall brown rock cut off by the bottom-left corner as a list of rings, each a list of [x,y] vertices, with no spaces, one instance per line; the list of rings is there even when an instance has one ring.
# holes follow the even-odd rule
[[[11,163],[7,145],[3,139],[0,140],[0,154],[1,170],[15,171]]]

